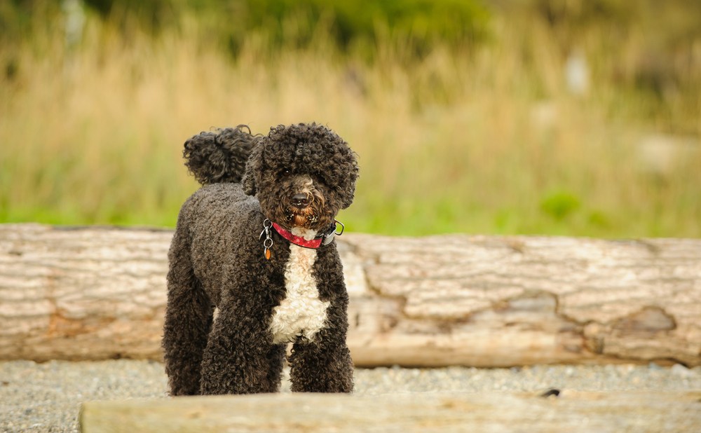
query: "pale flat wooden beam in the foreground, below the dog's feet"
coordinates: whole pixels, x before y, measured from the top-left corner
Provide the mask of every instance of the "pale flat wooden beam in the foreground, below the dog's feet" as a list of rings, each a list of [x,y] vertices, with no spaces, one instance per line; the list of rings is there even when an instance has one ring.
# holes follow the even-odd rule
[[[700,432],[701,392],[258,394],[89,401],[83,433]]]

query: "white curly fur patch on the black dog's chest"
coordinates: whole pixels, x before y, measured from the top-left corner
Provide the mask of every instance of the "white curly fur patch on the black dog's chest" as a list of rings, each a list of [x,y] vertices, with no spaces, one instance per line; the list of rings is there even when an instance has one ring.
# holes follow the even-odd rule
[[[295,233],[314,237],[313,233]],[[273,309],[270,331],[273,343],[291,343],[298,337],[313,341],[324,326],[329,302],[319,299],[316,279],[313,275],[316,250],[290,244],[290,259],[285,265],[285,289],[287,294],[280,305]]]

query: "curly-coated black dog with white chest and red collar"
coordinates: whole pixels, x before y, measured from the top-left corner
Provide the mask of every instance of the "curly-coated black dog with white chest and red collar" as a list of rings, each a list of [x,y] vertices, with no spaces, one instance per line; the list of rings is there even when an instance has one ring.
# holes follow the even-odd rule
[[[203,186],[182,206],[168,253],[171,394],[276,392],[287,343],[293,391],[351,392],[333,238],[353,201],[355,153],[313,123],[266,137],[245,126],[202,132],[184,157]]]

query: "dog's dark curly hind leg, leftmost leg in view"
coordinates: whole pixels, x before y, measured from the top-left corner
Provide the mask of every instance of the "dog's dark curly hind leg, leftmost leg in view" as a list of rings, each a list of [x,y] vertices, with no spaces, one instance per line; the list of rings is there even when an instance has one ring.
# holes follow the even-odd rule
[[[163,327],[170,394],[200,392],[200,364],[214,307],[194,274],[186,235],[176,229],[169,252],[168,305]]]

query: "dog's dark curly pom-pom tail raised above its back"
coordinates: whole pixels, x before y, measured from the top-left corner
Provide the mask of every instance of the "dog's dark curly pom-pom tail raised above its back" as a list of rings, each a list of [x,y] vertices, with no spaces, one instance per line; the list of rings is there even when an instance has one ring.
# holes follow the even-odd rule
[[[256,143],[246,125],[200,132],[185,142],[185,165],[200,184],[240,182]]]

